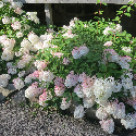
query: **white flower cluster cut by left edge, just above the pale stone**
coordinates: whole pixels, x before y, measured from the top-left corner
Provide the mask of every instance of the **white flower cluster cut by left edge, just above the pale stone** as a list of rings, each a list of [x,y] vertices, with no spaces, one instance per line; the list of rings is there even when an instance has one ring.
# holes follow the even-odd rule
[[[7,87],[9,79],[11,79],[11,76],[9,74],[0,75],[0,86]]]

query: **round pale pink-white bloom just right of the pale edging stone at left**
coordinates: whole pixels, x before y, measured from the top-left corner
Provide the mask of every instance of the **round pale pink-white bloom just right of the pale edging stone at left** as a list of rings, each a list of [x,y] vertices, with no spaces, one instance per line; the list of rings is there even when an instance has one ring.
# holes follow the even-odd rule
[[[18,90],[25,86],[24,82],[20,77],[13,79],[13,85]]]

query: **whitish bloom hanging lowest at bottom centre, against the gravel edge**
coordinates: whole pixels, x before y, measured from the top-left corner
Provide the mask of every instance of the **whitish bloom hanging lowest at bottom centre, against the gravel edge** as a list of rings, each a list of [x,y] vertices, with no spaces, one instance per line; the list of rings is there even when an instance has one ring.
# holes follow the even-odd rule
[[[82,104],[79,104],[78,107],[75,108],[75,111],[74,111],[75,119],[81,119],[84,116],[84,114],[85,114],[85,111],[84,111],[84,107]]]

